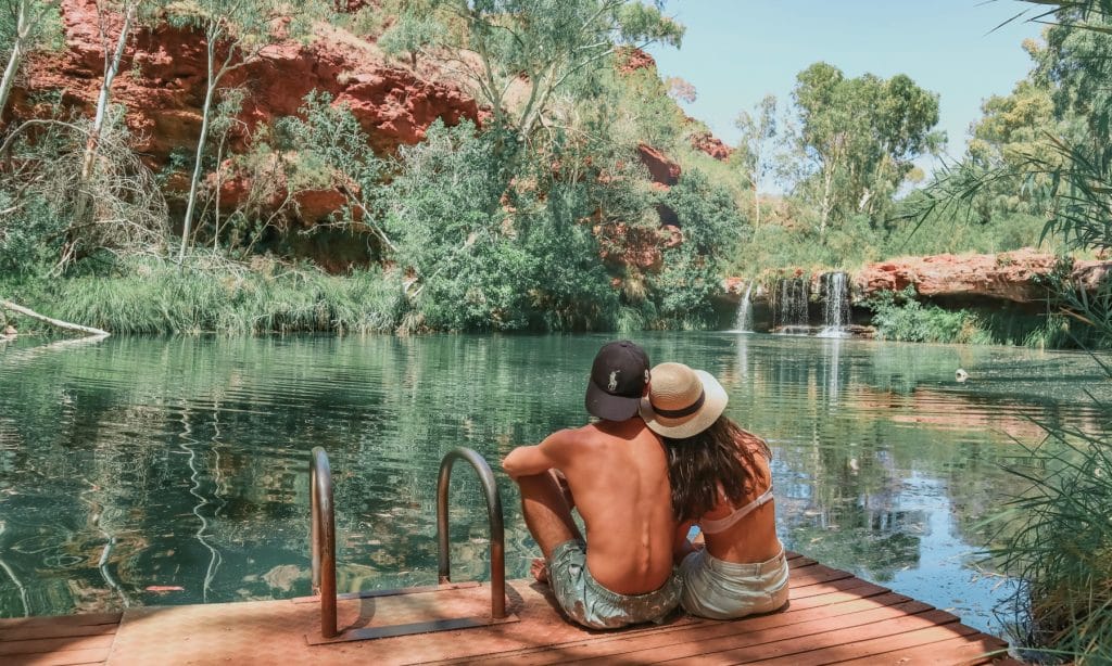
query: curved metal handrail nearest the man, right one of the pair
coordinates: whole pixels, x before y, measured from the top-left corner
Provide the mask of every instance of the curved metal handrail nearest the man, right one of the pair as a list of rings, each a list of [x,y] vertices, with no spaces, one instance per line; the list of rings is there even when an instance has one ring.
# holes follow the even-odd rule
[[[486,496],[487,518],[490,522],[490,616],[506,617],[506,532],[502,516],[502,495],[495,482],[490,465],[471,448],[457,446],[449,451],[440,463],[440,475],[436,484],[436,537],[439,547],[440,583],[451,582],[451,562],[448,551],[448,482],[451,466],[457,460],[470,463],[483,483]]]

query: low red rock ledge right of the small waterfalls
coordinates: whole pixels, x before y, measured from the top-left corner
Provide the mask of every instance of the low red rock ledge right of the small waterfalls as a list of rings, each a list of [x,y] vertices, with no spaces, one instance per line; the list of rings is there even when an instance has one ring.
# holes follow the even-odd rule
[[[1046,297],[1041,279],[1054,271],[1058,260],[1030,249],[1001,254],[957,256],[937,254],[902,258],[866,266],[854,278],[861,297],[880,291],[914,286],[927,297],[986,297],[1014,303],[1034,303]],[[1102,262],[1079,262],[1073,272],[1106,271]]]

